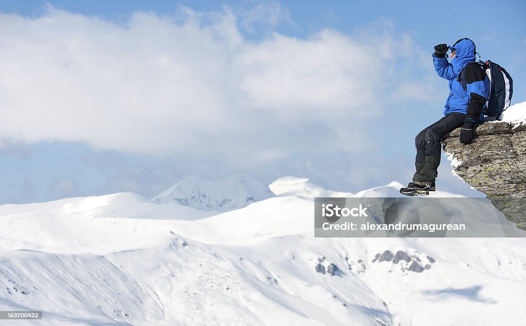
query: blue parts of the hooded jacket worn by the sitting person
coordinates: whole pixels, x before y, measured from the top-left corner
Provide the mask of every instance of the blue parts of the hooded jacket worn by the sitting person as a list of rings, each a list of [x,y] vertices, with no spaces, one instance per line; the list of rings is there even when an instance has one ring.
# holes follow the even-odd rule
[[[446,100],[446,105],[444,105],[444,115],[451,112],[466,114],[472,93],[478,94],[485,99],[489,96],[489,81],[487,77],[483,81],[468,83],[467,91],[464,90],[461,82],[457,81],[462,68],[468,63],[475,61],[476,48],[473,41],[469,38],[463,38],[455,43],[453,47],[457,54],[451,60],[451,63],[448,62],[447,56],[437,58],[433,53],[434,69],[440,77],[449,81],[449,96]],[[479,120],[482,121],[483,118],[484,114],[481,113]]]

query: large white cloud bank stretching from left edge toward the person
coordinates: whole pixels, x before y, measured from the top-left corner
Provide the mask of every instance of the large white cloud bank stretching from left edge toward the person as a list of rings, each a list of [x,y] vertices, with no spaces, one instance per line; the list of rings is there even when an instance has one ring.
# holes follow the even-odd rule
[[[261,12],[275,26],[283,11],[256,8],[242,24]],[[396,95],[398,72],[419,67],[403,57],[407,36],[389,28],[248,41],[228,8],[181,13],[136,13],[125,26],[53,8],[0,14],[0,143],[254,160],[360,150],[374,146],[371,122]]]

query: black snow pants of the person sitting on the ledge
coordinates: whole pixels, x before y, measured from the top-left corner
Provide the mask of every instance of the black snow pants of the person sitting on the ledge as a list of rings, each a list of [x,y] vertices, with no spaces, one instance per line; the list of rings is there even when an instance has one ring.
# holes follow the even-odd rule
[[[439,121],[433,123],[418,133],[414,139],[417,147],[415,167],[417,171],[413,175],[413,181],[434,181],[437,177],[440,165],[441,145],[440,140],[464,124],[463,113],[448,113]]]

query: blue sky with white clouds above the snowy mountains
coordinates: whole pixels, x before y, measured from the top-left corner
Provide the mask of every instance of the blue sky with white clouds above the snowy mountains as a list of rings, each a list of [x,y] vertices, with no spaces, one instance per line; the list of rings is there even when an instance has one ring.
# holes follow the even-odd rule
[[[442,116],[439,43],[470,37],[526,101],[521,1],[0,1],[0,203],[184,177],[408,182]],[[442,190],[475,195],[451,176]]]

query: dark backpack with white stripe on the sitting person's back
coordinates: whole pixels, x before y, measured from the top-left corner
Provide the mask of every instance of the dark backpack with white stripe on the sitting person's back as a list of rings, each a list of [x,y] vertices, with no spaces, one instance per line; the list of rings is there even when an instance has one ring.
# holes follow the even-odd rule
[[[486,101],[482,112],[484,115],[498,116],[502,111],[510,106],[511,95],[513,95],[513,80],[510,74],[499,64],[491,62],[490,60],[483,62],[471,62],[470,64],[478,64],[488,75],[490,84],[490,96]],[[464,90],[468,90],[468,83],[466,80],[466,68],[464,67],[459,74],[459,81],[462,83]]]

